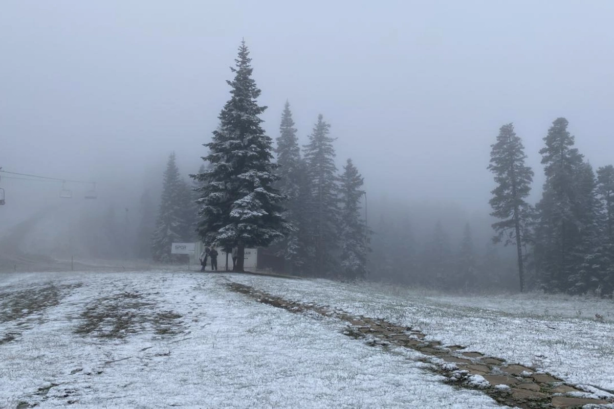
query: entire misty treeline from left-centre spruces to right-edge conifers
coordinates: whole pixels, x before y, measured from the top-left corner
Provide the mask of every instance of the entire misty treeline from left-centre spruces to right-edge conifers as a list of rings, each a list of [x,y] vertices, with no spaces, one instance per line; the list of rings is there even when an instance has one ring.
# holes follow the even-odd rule
[[[527,202],[534,172],[513,124],[503,125],[491,145],[493,241],[514,249],[502,251],[493,243],[476,245],[469,223],[453,232],[460,236],[454,241],[441,220],[429,234],[416,234],[402,210],[379,208],[367,226],[363,178],[351,159],[338,171],[335,138],[322,115],[301,147],[286,102],[273,148],[260,126],[266,107],[256,102],[260,90],[250,63],[242,44],[228,81],[231,99],[191,182],[169,157],[155,225],[151,212],[143,214],[139,254],[149,249],[156,261],[179,261],[170,243],[200,239],[228,251],[267,247],[286,260],[287,272],[316,277],[448,290],[614,290],[614,167],[595,173],[573,147],[564,118],[543,138],[546,180],[537,204]]]

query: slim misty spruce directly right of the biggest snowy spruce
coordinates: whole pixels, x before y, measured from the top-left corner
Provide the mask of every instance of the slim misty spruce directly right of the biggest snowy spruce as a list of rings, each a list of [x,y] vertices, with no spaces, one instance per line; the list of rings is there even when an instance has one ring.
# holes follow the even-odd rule
[[[300,272],[306,262],[305,235],[305,203],[308,202],[308,189],[303,188],[306,183],[305,164],[301,159],[300,147],[298,146],[297,129],[294,128],[290,103],[286,101],[284,112],[281,115],[279,125],[279,137],[277,138],[277,164],[276,174],[279,177],[275,184],[279,193],[288,198],[284,218],[292,223],[295,230],[291,231],[281,240],[281,253],[286,259],[290,273]]]

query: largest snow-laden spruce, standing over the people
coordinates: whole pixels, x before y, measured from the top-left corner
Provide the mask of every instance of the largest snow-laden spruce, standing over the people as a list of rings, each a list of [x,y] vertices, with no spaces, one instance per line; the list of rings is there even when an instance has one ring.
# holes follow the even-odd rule
[[[211,168],[191,175],[200,188],[198,234],[205,243],[238,248],[235,269],[243,271],[244,248],[266,247],[292,230],[282,216],[285,197],[273,188],[271,138],[260,124],[266,107],[257,104],[260,90],[252,78],[251,58],[241,42],[231,97],[219,115],[220,124],[212,141],[205,143],[209,155],[203,158]]]

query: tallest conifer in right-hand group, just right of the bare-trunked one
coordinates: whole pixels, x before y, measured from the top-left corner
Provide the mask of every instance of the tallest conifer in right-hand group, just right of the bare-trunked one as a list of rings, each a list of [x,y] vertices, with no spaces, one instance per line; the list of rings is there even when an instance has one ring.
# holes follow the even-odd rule
[[[540,150],[546,182],[537,204],[535,267],[547,291],[565,291],[578,265],[575,250],[580,242],[575,174],[583,156],[573,148],[567,120],[554,120]]]

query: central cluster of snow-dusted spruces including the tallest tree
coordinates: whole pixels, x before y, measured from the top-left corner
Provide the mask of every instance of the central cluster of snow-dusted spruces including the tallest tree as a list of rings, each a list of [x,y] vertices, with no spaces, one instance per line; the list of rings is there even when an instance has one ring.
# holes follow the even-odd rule
[[[209,149],[188,183],[171,154],[150,251],[158,262],[179,262],[171,243],[202,240],[226,251],[266,247],[286,261],[289,273],[344,279],[367,276],[368,232],[361,216],[363,178],[348,159],[335,165],[330,124],[317,117],[309,143],[300,147],[286,102],[276,148],[258,117],[260,90],[252,79],[251,58],[239,47],[231,98],[219,115]],[[144,217],[145,218],[145,217]],[[150,222],[150,220],[149,220]],[[142,223],[146,226],[146,222]],[[139,234],[145,249],[147,229]]]

